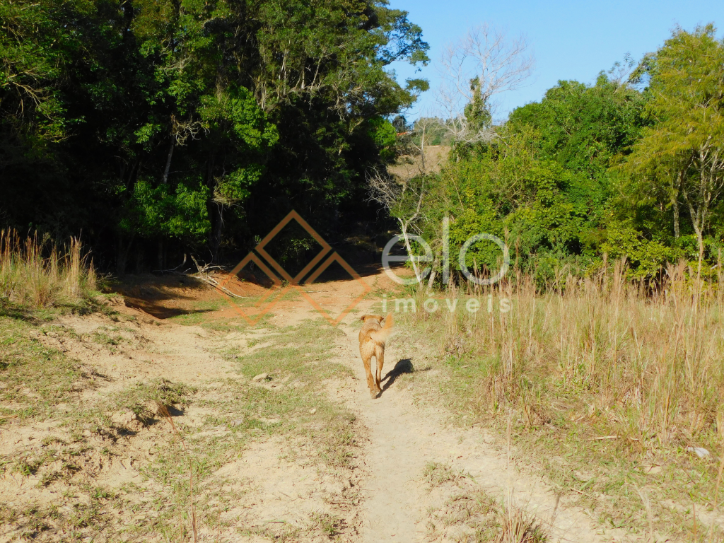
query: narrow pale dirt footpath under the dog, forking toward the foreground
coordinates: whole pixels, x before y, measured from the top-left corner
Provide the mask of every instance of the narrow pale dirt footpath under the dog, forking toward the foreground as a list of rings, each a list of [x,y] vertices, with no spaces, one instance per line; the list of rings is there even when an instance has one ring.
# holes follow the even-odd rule
[[[369,429],[364,456],[364,542],[426,540],[428,510],[442,505],[451,494],[430,492],[423,473],[432,463],[469,473],[492,496],[535,515],[545,523],[554,542],[623,540],[620,534],[598,534],[584,511],[567,507],[566,500],[558,499],[528,466],[521,466],[515,452],[510,452],[509,460],[505,442],[496,442],[481,429],[453,429],[445,424],[441,409],[416,403],[411,387],[395,378],[400,371],[409,371],[410,361],[416,365],[421,353],[400,348],[394,337],[387,350],[384,391],[377,400],[370,400],[357,351],[358,326],[353,322],[341,326],[349,353],[346,363],[356,379],[353,386],[341,388],[337,397]]]

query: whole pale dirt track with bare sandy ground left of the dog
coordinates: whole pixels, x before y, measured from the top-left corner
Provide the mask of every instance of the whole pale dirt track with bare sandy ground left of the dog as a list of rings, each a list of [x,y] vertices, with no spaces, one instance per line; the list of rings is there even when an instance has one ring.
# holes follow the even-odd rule
[[[366,280],[374,288],[389,286],[384,284],[387,279],[382,276],[371,276]],[[326,306],[344,307],[359,295],[359,285],[352,281],[328,282],[314,287],[312,292],[320,296],[319,303]],[[199,293],[189,291],[185,295],[193,299]],[[213,292],[208,290],[203,293],[205,299],[210,295]],[[158,300],[154,303],[161,307]],[[171,297],[164,307],[175,308],[179,304],[180,298]],[[429,367],[432,357],[432,353],[426,352],[429,347],[413,345],[405,337],[403,328],[392,337],[387,349],[382,395],[371,400],[366,390],[357,335],[358,316],[373,309],[374,300],[364,300],[356,313],[350,313],[340,323],[338,329],[343,334],[335,332],[337,340],[330,362],[339,363],[350,371],[340,374],[346,377],[338,375],[329,379],[324,389],[332,405],[342,405],[347,412],[353,413],[355,432],[363,437],[357,458],[347,467],[313,460],[317,453],[303,434],[290,437],[291,434],[283,432],[268,432],[269,428],[276,427],[274,425],[283,424],[279,418],[258,411],[240,414],[243,405],[238,403],[238,397],[254,387],[264,387],[273,395],[277,393],[274,390],[290,390],[303,383],[286,381],[286,370],[282,366],[274,379],[270,377],[271,381],[250,382],[251,377],[239,374],[235,357],[220,355],[230,349],[239,353],[261,352],[269,348],[273,341],[270,338],[274,334],[279,336],[280,330],[309,319],[321,322],[313,308],[300,298],[290,298],[274,308],[271,321],[277,332],[273,334],[260,328],[220,332],[219,329],[182,326],[155,319],[140,308],[123,308],[122,313],[133,316],[134,320],[124,321],[117,332],[111,332],[111,329],[119,324],[106,316],[70,316],[61,319],[61,328],[53,325],[59,332],[41,335],[46,345],[59,348],[97,372],[93,387],[81,393],[81,404],[86,401],[97,403],[98,398],[103,401],[149,379],[182,381],[203,390],[203,394],[200,393],[203,401],[192,402],[174,416],[189,443],[207,455],[208,460],[204,461],[218,465],[198,488],[197,502],[206,504],[198,506],[200,511],[206,511],[199,513],[200,519],[217,519],[212,523],[213,528],[206,520],[199,521],[200,526],[206,526],[199,530],[201,541],[324,542],[329,541],[331,535],[353,543],[475,541],[475,519],[469,508],[463,511],[465,514],[455,516],[450,512],[450,504],[468,499],[465,495],[476,492],[484,492],[495,501],[505,503],[507,510],[525,510],[529,518],[536,518],[545,526],[552,542],[631,540],[619,533],[600,531],[589,515],[571,504],[570,498],[559,499],[504,439],[479,427],[454,428],[447,424],[449,413],[444,408],[434,400],[419,400],[418,390],[427,390],[426,397],[429,397],[429,391],[437,387],[437,379],[445,376]],[[212,313],[219,319],[217,322],[239,320],[235,311],[228,307]],[[121,334],[122,337],[101,345],[88,339],[94,334],[101,334],[101,337],[105,337],[103,334]],[[237,414],[232,414],[234,410]],[[314,411],[316,409],[309,410],[306,406],[303,412]],[[114,419],[120,425],[117,427],[125,425],[129,430],[112,439],[97,435],[94,430],[84,432],[86,437],[72,437],[70,427],[66,430],[57,424],[46,423],[13,423],[0,429],[3,438],[0,455],[7,459],[30,453],[40,455],[46,450],[41,441],[44,443],[51,438],[71,444],[67,455],[87,457],[82,466],[79,463],[80,471],[72,473],[63,471],[61,458],[49,460],[31,476],[7,472],[9,475],[0,480],[0,502],[4,500],[11,504],[9,507],[14,508],[15,520],[7,525],[0,522],[0,542],[15,538],[22,541],[25,534],[29,534],[30,539],[39,537],[40,541],[62,541],[67,537],[64,530],[69,529],[68,526],[77,530],[77,539],[93,536],[101,530],[113,534],[109,531],[111,526],[117,530],[115,533],[123,534],[122,539],[129,541],[151,540],[147,539],[147,534],[159,533],[159,528],[155,527],[159,513],[151,512],[148,495],[164,494],[168,490],[158,483],[144,482],[146,479],[141,475],[151,473],[148,470],[154,465],[159,466],[164,443],[171,437],[170,429],[162,420],[142,426],[138,421],[123,418],[128,413],[116,415],[121,417]],[[325,424],[329,422],[327,419]],[[237,424],[252,424],[265,431],[237,433]],[[308,427],[315,428],[313,418],[300,424],[311,424]],[[244,437],[247,435],[252,437]],[[233,439],[239,441],[233,442]],[[106,451],[107,458],[98,454],[102,450]],[[429,476],[431,470],[438,470],[445,476],[437,476],[433,483]],[[83,489],[97,484],[111,489],[111,494],[116,492],[114,489],[132,490],[122,491],[126,493],[112,499],[96,499],[84,494]],[[479,502],[479,494],[476,496]],[[38,531],[33,526],[40,521],[29,516],[33,511],[38,518],[46,514],[43,508],[38,509],[38,504],[44,508],[60,505],[62,515],[67,511],[68,520],[47,521]],[[97,519],[74,528],[72,523],[77,522],[74,512],[82,508],[95,508]],[[141,513],[131,516],[132,510]],[[130,521],[142,530],[129,537],[123,530]],[[174,531],[180,530],[184,521],[167,518],[164,522],[172,540],[188,540],[181,532],[177,535]]]

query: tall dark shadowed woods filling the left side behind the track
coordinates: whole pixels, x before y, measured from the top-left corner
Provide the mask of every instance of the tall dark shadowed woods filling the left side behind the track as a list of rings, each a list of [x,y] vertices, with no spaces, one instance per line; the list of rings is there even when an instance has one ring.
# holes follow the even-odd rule
[[[120,273],[246,251],[291,209],[374,217],[364,172],[426,88],[386,71],[428,46],[384,0],[12,0],[0,23],[0,226],[82,233]]]

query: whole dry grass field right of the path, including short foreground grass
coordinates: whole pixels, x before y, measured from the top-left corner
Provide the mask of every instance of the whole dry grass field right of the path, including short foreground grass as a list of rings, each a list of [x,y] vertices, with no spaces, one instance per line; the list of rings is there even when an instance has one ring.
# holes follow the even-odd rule
[[[437,338],[453,377],[442,386],[460,421],[502,432],[504,413],[513,413],[515,441],[600,521],[691,532],[693,508],[721,515],[724,445],[724,282],[695,276],[684,264],[668,266],[654,290],[628,282],[618,263],[584,280],[560,276],[541,292],[518,274],[491,290],[437,295],[458,298],[452,312],[440,300],[427,313],[430,295],[418,292],[407,318]],[[465,308],[471,297],[480,300],[476,313]],[[512,300],[508,313],[501,298]],[[676,504],[664,523],[662,502]]]

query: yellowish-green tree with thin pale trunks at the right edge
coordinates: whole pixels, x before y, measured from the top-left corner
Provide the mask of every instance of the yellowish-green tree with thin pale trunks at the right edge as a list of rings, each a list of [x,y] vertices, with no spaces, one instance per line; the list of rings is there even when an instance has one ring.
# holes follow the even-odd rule
[[[665,193],[678,237],[679,198],[696,235],[699,272],[704,235],[724,190],[724,45],[713,25],[678,28],[647,56],[635,77],[649,81],[645,115],[652,123],[633,145],[626,169]]]

